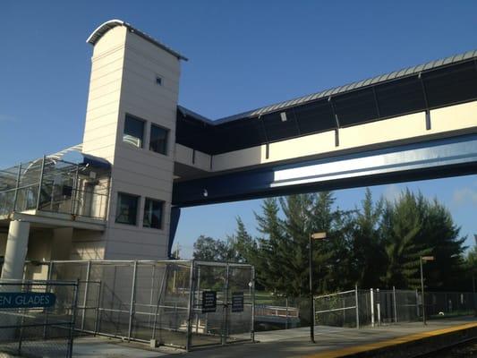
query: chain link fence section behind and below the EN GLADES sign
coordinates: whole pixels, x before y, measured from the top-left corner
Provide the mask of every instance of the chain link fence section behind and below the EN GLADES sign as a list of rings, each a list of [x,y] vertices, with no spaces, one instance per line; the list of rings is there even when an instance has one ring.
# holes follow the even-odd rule
[[[0,281],[0,356],[72,357],[77,282]]]

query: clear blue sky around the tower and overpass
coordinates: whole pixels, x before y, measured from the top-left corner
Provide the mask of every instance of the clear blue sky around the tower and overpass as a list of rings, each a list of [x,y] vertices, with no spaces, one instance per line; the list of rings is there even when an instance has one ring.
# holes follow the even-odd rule
[[[477,48],[474,1],[0,2],[0,167],[81,142],[91,48],[100,23],[132,23],[190,58],[180,103],[212,119]],[[406,185],[372,188],[396,197]],[[477,177],[407,184],[477,232]],[[336,192],[353,208],[363,189]],[[199,234],[224,237],[260,200],[184,209],[185,256]]]

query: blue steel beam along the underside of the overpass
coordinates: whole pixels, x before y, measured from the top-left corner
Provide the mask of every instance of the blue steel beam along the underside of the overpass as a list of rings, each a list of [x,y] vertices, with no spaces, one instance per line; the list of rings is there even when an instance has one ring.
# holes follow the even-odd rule
[[[187,207],[477,173],[477,134],[267,166],[174,185]]]

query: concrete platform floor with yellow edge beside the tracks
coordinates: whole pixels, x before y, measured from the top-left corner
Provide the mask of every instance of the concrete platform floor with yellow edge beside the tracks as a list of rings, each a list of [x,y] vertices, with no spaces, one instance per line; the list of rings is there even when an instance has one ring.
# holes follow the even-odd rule
[[[106,338],[78,338],[74,345],[74,357],[127,357],[152,358],[174,357],[177,354],[187,358],[260,357],[292,358],[313,357],[332,358],[396,345],[422,337],[437,336],[449,330],[477,327],[475,318],[459,320],[432,320],[427,326],[422,323],[403,323],[378,328],[330,328],[316,327],[316,344],[311,344],[309,328],[294,328],[256,334],[257,344],[234,344],[208,347],[185,354],[183,351],[148,349],[146,345],[119,343]]]

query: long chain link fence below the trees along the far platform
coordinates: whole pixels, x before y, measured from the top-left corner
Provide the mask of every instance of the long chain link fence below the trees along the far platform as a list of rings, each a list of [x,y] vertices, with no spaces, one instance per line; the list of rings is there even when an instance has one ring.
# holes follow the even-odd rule
[[[425,292],[428,320],[473,315],[477,294]],[[315,325],[360,328],[422,320],[418,290],[359,289],[314,297]],[[310,326],[309,297],[290,298],[266,292],[256,294],[256,330]]]

